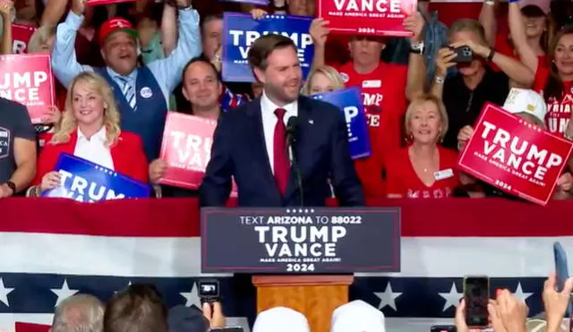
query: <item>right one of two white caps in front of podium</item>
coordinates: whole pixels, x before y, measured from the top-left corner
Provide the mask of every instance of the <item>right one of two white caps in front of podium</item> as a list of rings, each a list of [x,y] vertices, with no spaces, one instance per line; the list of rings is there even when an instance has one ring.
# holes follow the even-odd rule
[[[372,305],[356,300],[332,313],[330,332],[385,332],[384,314]]]

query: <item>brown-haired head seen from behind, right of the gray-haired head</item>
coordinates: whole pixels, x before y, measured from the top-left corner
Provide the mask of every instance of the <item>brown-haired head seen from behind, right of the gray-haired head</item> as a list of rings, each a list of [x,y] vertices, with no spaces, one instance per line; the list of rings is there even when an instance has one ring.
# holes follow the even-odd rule
[[[130,285],[107,302],[106,332],[167,332],[167,309],[153,285]]]

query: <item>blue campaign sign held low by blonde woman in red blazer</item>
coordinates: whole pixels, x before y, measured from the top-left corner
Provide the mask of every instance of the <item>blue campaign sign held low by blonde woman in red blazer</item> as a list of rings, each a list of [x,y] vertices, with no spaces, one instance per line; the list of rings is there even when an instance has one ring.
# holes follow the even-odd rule
[[[62,175],[62,186],[44,192],[43,197],[63,197],[90,202],[150,197],[149,184],[140,183],[67,153],[58,157],[54,170]]]

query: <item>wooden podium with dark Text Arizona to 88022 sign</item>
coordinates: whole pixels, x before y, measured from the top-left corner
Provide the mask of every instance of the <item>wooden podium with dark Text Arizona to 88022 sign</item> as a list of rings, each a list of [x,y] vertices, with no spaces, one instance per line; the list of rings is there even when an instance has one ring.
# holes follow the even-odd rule
[[[328,332],[355,272],[399,272],[398,208],[201,209],[201,271],[247,273],[257,312],[282,306]]]

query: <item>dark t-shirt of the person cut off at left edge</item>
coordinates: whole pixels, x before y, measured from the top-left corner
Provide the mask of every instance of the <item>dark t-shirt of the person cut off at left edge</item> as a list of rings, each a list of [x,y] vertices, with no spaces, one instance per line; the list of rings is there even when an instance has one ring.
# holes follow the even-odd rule
[[[0,98],[0,183],[10,179],[16,170],[14,139],[36,140],[36,132],[26,107]]]

